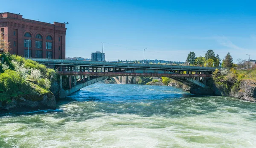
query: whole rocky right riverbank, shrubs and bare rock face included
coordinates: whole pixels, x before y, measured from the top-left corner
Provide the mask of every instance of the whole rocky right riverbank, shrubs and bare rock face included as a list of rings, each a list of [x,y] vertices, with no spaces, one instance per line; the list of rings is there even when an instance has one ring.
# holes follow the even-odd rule
[[[256,69],[216,70],[212,78],[221,95],[256,102]]]

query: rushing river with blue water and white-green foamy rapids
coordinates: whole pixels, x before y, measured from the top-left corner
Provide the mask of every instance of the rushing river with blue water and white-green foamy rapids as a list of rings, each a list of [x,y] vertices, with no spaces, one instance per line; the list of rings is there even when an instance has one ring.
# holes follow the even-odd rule
[[[256,104],[167,86],[93,84],[56,110],[0,116],[0,148],[255,148]]]

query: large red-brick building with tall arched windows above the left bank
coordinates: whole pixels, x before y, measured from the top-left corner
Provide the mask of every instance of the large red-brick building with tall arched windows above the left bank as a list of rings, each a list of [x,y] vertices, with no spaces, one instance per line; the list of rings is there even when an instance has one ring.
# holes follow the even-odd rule
[[[65,59],[64,23],[24,19],[20,14],[0,13],[0,31],[10,43],[9,53],[23,57]]]

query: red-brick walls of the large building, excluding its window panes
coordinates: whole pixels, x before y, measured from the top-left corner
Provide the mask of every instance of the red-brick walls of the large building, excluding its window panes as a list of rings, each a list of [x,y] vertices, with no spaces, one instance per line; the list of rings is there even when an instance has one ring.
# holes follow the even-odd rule
[[[64,23],[54,22],[54,24],[50,24],[23,19],[22,15],[19,14],[3,13],[0,14],[0,28],[4,28],[5,40],[10,42],[10,48],[12,50],[9,52],[12,54],[15,53],[23,56],[24,49],[28,49],[28,47],[24,47],[24,39],[30,39],[32,47],[29,47],[29,50],[32,50],[33,58],[35,58],[36,50],[42,50],[43,58],[46,58],[46,51],[52,51],[53,59],[65,59],[67,28],[65,28]],[[29,32],[32,37],[25,37],[24,34],[26,32]],[[43,39],[37,39],[37,34],[40,34]],[[52,40],[47,40],[47,36],[51,36]],[[36,40],[43,42],[42,49],[36,48]],[[52,42],[52,50],[46,49],[46,42]]]

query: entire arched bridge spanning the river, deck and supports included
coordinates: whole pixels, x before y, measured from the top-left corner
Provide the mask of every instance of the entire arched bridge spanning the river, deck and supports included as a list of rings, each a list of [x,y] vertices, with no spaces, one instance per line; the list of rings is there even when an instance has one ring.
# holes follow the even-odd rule
[[[49,68],[57,70],[61,98],[90,84],[119,76],[154,76],[169,77],[192,89],[209,89],[207,81],[215,71],[215,67],[196,67],[163,64],[135,64],[106,61],[77,61],[64,59],[29,58]],[[63,83],[67,86],[63,86]],[[191,91],[190,91],[191,92]],[[200,94],[204,93],[201,91]],[[191,92],[192,93],[192,92]],[[195,91],[193,92],[195,93]]]

